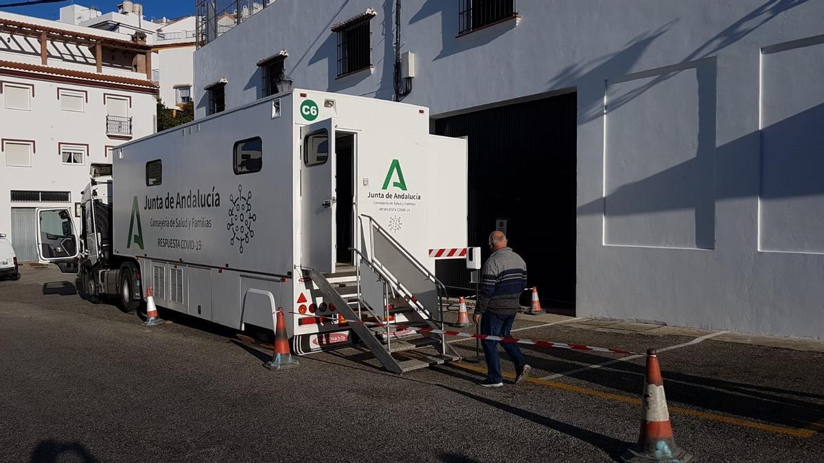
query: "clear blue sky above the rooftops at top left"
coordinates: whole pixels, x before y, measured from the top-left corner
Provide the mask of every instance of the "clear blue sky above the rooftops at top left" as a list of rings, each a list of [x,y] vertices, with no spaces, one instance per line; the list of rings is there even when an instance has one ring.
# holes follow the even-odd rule
[[[59,19],[61,7],[77,3],[83,7],[97,7],[103,13],[117,11],[119,0],[66,0],[65,2],[44,3],[29,7],[3,7],[7,3],[26,2],[26,0],[0,0],[0,12],[10,12],[19,15],[37,16],[44,19]],[[153,17],[177,17],[194,14],[194,0],[137,0],[143,4],[143,16],[146,19]]]

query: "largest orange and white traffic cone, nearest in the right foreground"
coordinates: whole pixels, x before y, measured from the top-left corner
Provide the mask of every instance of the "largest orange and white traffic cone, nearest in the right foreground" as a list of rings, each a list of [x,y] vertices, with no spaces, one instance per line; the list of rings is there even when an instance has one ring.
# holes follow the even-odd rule
[[[652,348],[647,350],[647,376],[644,379],[641,411],[644,416],[638,444],[627,449],[621,456],[621,461],[692,461],[692,456],[678,448],[672,437],[672,424],[667,410],[667,398],[664,396],[661,367],[658,366],[658,353]]]

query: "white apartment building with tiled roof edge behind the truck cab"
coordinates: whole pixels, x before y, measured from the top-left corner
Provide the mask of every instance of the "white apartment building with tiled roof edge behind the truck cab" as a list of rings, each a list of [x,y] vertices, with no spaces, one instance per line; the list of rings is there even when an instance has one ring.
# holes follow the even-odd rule
[[[154,132],[151,50],[142,35],[0,12],[0,232],[19,260],[37,259],[35,208],[77,206],[91,164]]]

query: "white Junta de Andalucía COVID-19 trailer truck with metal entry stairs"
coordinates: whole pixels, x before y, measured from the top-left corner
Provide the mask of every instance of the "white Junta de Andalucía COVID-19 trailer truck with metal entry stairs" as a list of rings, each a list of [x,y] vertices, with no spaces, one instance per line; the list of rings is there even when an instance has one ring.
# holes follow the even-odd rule
[[[125,143],[111,172],[92,166],[80,246],[68,210],[39,211],[40,259],[79,257],[83,291],[127,309],[152,287],[244,330],[283,307],[298,354],[359,341],[395,372],[450,361],[394,326],[442,324],[429,250],[466,249],[466,141],[428,128],[424,107],[294,90]]]

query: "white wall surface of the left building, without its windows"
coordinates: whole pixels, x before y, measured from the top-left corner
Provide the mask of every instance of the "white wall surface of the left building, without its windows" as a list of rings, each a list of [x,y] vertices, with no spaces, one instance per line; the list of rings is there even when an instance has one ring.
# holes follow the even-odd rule
[[[67,30],[82,31],[86,28],[66,26],[54,21],[42,21],[28,16],[8,15],[3,18],[39,24],[40,26],[60,27]],[[65,27],[64,27],[65,26]],[[122,35],[112,38],[123,40]],[[12,43],[23,44],[20,36],[14,36]],[[40,66],[40,46],[37,54],[32,55],[23,46],[2,47],[0,40],[0,60],[15,63],[30,63]],[[68,47],[67,54],[54,54],[54,47]],[[19,85],[27,87],[29,108],[24,110],[7,109],[8,91],[0,93],[0,232],[12,235],[12,208],[37,208],[47,206],[68,206],[80,201],[80,192],[89,181],[89,166],[94,162],[111,162],[106,147],[115,147],[124,143],[125,138],[143,137],[155,131],[156,91],[151,88],[124,86],[115,82],[89,81],[62,75],[60,69],[72,69],[84,72],[96,72],[94,59],[84,64],[81,56],[88,47],[73,44],[49,43],[49,68],[53,73],[31,73],[21,76],[20,69],[0,66],[0,85],[4,88]],[[24,72],[25,73],[25,72]],[[131,77],[145,81],[145,72],[126,72],[121,69],[104,66],[101,77]],[[146,81],[146,84],[149,82]],[[74,91],[82,96],[82,111],[62,110],[59,100],[60,91]],[[129,117],[132,118],[132,133],[107,133],[106,116],[109,110],[105,100],[122,97],[126,103]],[[8,153],[3,149],[9,140],[30,141],[34,145],[30,166],[10,166]],[[86,157],[82,164],[64,164],[60,152],[60,143],[84,147]],[[68,203],[24,203],[11,201],[12,190],[27,191],[68,191]],[[76,221],[79,226],[79,220]],[[12,242],[14,236],[11,236]]]

